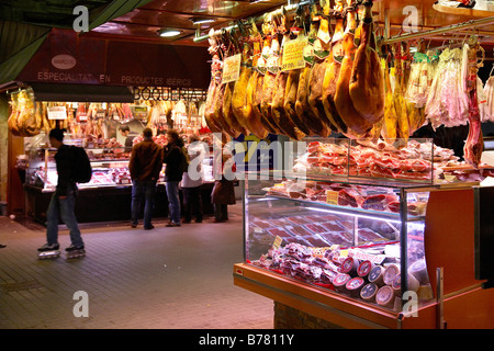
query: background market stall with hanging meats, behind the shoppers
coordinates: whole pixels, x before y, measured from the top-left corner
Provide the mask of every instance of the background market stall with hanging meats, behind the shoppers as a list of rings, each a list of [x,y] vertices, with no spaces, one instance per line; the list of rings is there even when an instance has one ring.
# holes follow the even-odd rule
[[[9,118],[9,127],[12,133],[24,136],[24,149],[27,157],[25,165],[23,167],[18,165],[18,169],[24,170],[26,215],[42,224],[46,220],[47,205],[57,184],[54,160],[56,150],[49,146],[47,139],[50,128],[55,126],[66,128],[65,143],[83,147],[91,161],[92,178],[90,182],[79,184],[80,195],[76,206],[78,220],[88,223],[130,218],[132,191],[132,180],[127,168],[130,148],[125,147],[126,138],[120,133],[121,126],[130,127],[133,133],[131,137],[133,144],[142,140],[142,132],[145,126],[148,126],[155,131],[154,139],[161,146],[166,143],[164,133],[169,127],[167,118],[168,122],[177,122],[176,127],[186,141],[190,134],[199,135],[202,126],[200,111],[197,107],[198,103],[201,103],[199,100],[189,101],[187,104],[183,100],[146,100],[132,104],[71,103],[34,102],[31,100],[32,97],[33,91],[30,89],[11,94],[14,107]],[[33,123],[29,121],[30,118]],[[207,134],[201,134],[201,138],[209,148],[211,137]],[[24,158],[22,155],[21,159]],[[205,179],[202,185],[205,213],[212,213],[211,162],[211,156],[207,155],[203,161]],[[168,214],[164,170],[158,181],[157,217],[166,217]]]

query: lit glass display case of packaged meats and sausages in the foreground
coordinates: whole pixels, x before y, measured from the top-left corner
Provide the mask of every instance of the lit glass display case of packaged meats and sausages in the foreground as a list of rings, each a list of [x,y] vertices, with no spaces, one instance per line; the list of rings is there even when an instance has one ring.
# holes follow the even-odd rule
[[[245,182],[247,263],[392,310],[405,292],[431,301],[423,186],[256,176]]]

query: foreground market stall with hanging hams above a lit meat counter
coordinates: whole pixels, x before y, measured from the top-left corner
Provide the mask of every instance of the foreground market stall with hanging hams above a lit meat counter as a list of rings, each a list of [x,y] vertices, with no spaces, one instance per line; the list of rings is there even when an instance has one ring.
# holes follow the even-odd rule
[[[489,35],[475,29],[494,18],[390,37],[389,2],[377,3],[300,2],[210,32],[209,127],[233,145],[251,132],[306,147],[281,169],[244,173],[234,282],[272,298],[280,328],[311,328],[303,316],[346,328],[492,327],[493,275],[478,253],[489,246],[480,228],[492,226],[478,201],[494,174],[482,161],[493,116],[478,76]],[[461,126],[461,152],[423,132]]]

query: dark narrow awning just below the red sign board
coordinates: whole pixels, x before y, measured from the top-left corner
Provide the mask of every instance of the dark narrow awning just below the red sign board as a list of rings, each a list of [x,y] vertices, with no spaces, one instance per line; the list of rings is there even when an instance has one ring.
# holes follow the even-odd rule
[[[46,83],[26,84],[33,88],[36,101],[134,102],[134,94],[127,87]]]

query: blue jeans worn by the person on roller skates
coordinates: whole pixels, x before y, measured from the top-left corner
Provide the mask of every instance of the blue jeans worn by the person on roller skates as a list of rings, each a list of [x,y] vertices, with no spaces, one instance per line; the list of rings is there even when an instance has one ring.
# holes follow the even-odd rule
[[[71,244],[77,248],[85,245],[74,212],[75,207],[76,194],[70,185],[67,189],[67,197],[60,199],[56,191],[52,195],[48,211],[46,212],[46,239],[48,245],[58,244],[58,224],[60,218],[69,229]]]

